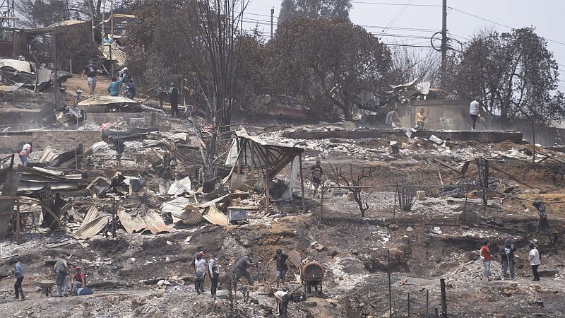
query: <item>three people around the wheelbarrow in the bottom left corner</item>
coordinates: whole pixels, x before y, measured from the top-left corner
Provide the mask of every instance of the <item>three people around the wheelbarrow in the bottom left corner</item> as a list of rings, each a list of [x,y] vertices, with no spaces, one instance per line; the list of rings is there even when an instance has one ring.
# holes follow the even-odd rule
[[[10,263],[13,266],[11,276],[16,278],[16,283],[13,285],[13,290],[16,294],[14,298],[16,300],[25,300],[22,289],[24,277],[23,264],[18,259],[11,259]],[[85,274],[81,271],[80,266],[75,266],[75,274],[73,275],[71,289],[69,290],[69,263],[67,263],[65,255],[61,255],[55,261],[53,271],[55,274],[55,284],[57,285],[57,297],[67,297],[69,293],[71,295],[78,295],[78,288],[86,287]]]

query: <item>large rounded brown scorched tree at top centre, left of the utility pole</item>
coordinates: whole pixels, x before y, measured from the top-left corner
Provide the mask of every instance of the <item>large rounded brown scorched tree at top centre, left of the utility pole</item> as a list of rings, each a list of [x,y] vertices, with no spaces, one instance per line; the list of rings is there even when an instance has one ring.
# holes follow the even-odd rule
[[[322,118],[332,117],[337,107],[352,119],[355,105],[369,107],[362,95],[381,95],[390,76],[388,48],[347,20],[287,20],[267,49],[273,89]]]

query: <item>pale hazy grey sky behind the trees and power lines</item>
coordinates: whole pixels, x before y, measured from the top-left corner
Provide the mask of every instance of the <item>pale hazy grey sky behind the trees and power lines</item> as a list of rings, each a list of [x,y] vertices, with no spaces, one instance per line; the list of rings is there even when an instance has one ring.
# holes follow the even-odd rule
[[[259,23],[264,28],[265,35],[270,33],[270,9],[275,8],[275,17],[280,11],[280,0],[249,0],[245,19],[249,21],[244,27],[251,28]],[[404,11],[390,25],[392,29],[386,33],[402,35],[403,37],[384,36],[383,42],[404,43],[410,45],[429,45],[429,37],[434,34],[431,30],[441,30],[441,0],[353,0],[350,18],[358,25],[368,25],[372,33],[381,33],[383,27],[404,9]],[[403,6],[410,3],[412,6]],[[398,4],[398,5],[388,5]],[[422,6],[415,6],[422,5]],[[427,6],[431,5],[431,6]],[[548,48],[554,53],[559,63],[560,82],[559,89],[565,91],[565,1],[564,0],[448,0],[447,28],[451,37],[467,41],[481,28],[495,28],[499,32],[509,31],[501,25],[512,28],[534,26],[537,35],[548,40],[561,42],[548,42]],[[470,13],[480,18],[492,20],[501,25],[469,16],[460,11]],[[258,16],[264,15],[264,16]],[[251,21],[254,21],[253,23]],[[261,25],[261,23],[264,23]],[[275,18],[276,28],[276,18]],[[394,30],[393,28],[418,28],[429,29],[426,31]],[[412,37],[412,38],[411,38]],[[415,37],[415,38],[414,38]],[[422,48],[426,49],[426,48]]]

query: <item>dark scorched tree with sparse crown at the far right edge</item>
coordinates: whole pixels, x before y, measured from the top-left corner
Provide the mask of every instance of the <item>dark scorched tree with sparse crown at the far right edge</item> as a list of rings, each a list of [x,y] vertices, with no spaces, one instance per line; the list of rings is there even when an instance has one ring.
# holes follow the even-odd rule
[[[563,94],[555,93],[557,62],[533,28],[511,33],[483,32],[451,60],[451,90],[456,98],[480,96],[485,110],[501,117],[564,116]]]

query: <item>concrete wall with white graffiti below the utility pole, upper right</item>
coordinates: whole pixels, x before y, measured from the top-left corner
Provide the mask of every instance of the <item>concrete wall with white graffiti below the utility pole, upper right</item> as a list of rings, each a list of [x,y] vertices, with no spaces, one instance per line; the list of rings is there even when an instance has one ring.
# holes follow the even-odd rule
[[[427,116],[426,129],[470,129],[470,100],[411,100],[404,104],[396,102],[398,117],[403,127],[416,126],[416,113],[424,108]],[[478,125],[478,123],[477,123]]]

